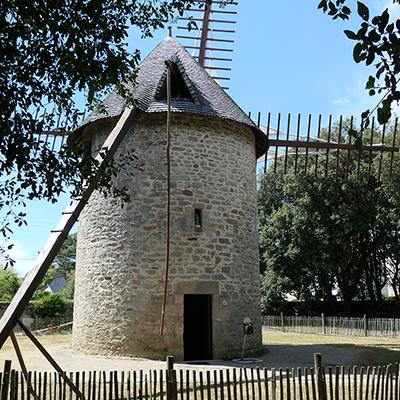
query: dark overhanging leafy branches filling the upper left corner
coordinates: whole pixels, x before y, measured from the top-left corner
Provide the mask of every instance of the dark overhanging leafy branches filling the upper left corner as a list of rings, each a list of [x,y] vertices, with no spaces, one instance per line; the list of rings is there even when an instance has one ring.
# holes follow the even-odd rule
[[[93,108],[110,90],[132,103],[122,84],[135,79],[142,37],[182,15],[192,0],[4,0],[0,3],[0,231],[24,224],[27,200],[56,201],[67,187],[90,179],[93,160],[73,146],[54,151],[42,135],[76,126],[77,99]],[[132,38],[129,40],[132,42]],[[117,169],[123,163],[116,165]],[[100,182],[110,190],[112,169]],[[123,188],[114,194],[124,197]],[[126,200],[126,198],[125,198]],[[1,248],[3,256],[5,248]],[[9,262],[9,259],[6,259]]]

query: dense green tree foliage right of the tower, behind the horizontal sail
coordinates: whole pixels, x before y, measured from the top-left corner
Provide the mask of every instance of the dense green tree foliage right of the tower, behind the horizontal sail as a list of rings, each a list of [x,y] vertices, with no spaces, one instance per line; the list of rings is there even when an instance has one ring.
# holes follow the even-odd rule
[[[388,179],[390,158],[352,151],[332,155],[326,164],[309,154],[308,175],[293,174],[289,158],[289,174],[279,173],[278,160],[278,174],[263,176],[258,203],[264,311],[288,294],[324,300],[333,309],[338,291],[350,314],[354,299],[382,302],[387,283],[400,306],[400,166],[396,157]],[[339,171],[348,165],[348,178],[335,175],[337,162]],[[382,182],[374,177],[379,169]]]

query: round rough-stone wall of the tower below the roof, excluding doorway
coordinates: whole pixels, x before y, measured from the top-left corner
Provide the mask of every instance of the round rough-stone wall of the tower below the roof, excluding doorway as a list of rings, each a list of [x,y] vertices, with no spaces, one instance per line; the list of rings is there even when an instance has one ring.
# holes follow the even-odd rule
[[[135,150],[132,202],[95,193],[80,217],[73,346],[92,354],[183,358],[183,296],[211,294],[213,356],[240,354],[244,317],[255,323],[248,354],[261,350],[255,139],[237,123],[173,114],[171,267],[164,335],[165,114],[140,114],[121,151]],[[114,121],[100,121],[98,148]],[[201,209],[203,224],[194,225]]]

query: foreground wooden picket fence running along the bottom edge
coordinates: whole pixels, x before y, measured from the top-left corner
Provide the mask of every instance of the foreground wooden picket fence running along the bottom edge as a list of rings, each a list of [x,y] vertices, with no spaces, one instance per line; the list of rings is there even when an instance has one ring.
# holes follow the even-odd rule
[[[399,366],[0,373],[1,400],[399,400]]]

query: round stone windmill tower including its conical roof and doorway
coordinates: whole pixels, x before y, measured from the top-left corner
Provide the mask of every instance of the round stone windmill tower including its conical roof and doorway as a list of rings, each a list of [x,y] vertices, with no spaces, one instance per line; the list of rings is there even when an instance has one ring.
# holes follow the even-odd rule
[[[166,248],[166,64],[172,62],[171,260],[160,336]],[[131,203],[94,193],[79,223],[73,346],[103,355],[177,359],[240,354],[243,319],[254,322],[246,354],[261,350],[256,157],[264,135],[174,39],[142,62],[136,117],[119,154],[141,168],[121,173]],[[75,133],[104,142],[124,109],[111,94],[104,114]]]

